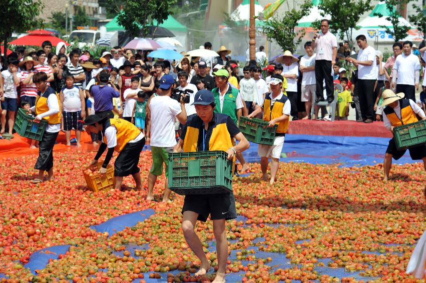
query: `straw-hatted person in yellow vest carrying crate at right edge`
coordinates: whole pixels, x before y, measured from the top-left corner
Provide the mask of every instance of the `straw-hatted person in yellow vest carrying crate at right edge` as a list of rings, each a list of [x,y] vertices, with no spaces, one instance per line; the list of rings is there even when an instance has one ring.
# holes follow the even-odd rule
[[[417,122],[416,114],[423,120],[426,120],[424,111],[411,99],[402,99],[405,94],[394,93],[391,89],[385,89],[381,94],[383,97],[383,103],[381,106],[384,107],[383,123],[393,133],[393,128],[400,125],[405,125],[413,122]],[[426,170],[426,145],[422,144],[419,146],[408,148],[412,160],[423,160],[424,170]],[[386,149],[386,154],[383,161],[383,180],[387,181],[389,177],[390,168],[392,167],[392,157],[395,160],[404,155],[406,149],[398,150],[395,144],[395,140],[389,140],[389,145]]]

